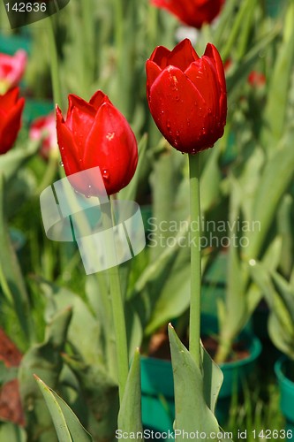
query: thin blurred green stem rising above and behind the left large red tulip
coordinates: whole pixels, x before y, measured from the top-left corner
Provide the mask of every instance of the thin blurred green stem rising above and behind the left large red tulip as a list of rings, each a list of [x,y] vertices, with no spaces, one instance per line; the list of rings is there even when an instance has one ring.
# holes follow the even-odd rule
[[[54,34],[53,19],[51,17],[48,17],[46,21],[48,25],[47,32],[49,40],[50,72],[53,89],[53,100],[55,104],[58,103],[59,106],[62,106],[61,86],[58,72],[57,42]]]

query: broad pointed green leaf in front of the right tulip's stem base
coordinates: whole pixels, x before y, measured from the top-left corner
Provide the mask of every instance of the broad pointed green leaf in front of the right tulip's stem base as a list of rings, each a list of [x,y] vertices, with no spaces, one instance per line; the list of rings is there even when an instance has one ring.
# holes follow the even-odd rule
[[[178,431],[218,432],[215,415],[208,408],[204,393],[204,381],[200,368],[191,354],[177,338],[174,329],[169,327],[171,363],[174,375],[176,419],[174,428]],[[213,406],[214,404],[210,405]],[[177,438],[178,441],[185,437]]]

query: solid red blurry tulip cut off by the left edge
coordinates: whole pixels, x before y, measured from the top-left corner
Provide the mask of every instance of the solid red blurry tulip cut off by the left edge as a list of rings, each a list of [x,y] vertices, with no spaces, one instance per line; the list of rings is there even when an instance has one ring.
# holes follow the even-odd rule
[[[24,104],[25,99],[19,98],[19,88],[0,95],[0,154],[11,149],[18,136]]]

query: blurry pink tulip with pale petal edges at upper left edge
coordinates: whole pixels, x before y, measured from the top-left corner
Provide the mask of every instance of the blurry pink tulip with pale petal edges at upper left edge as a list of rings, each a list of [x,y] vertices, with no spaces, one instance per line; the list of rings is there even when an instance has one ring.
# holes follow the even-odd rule
[[[18,50],[14,56],[0,53],[0,94],[5,94],[19,84],[25,69],[25,50]]]

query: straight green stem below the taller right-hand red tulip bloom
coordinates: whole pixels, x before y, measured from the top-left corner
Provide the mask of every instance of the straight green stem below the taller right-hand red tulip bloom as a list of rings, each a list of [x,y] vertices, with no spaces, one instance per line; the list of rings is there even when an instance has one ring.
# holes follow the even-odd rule
[[[189,155],[190,171],[190,215],[191,225],[191,296],[189,350],[200,368],[200,292],[201,292],[201,250],[200,232],[194,225],[200,225],[200,154]]]

